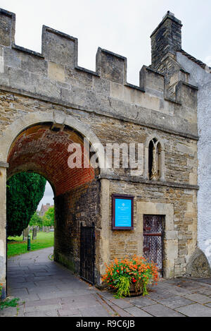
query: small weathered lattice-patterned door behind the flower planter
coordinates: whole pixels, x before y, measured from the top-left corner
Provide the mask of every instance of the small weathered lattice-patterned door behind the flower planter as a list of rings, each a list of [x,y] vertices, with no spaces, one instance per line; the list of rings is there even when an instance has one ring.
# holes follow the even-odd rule
[[[162,215],[143,215],[143,256],[157,263],[161,277],[163,219]]]

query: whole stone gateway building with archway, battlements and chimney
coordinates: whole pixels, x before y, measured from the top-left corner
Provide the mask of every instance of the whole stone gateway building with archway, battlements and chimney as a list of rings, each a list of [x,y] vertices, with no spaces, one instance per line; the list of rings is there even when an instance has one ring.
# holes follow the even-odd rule
[[[81,68],[77,39],[46,26],[41,54],[16,45],[15,14],[1,9],[0,282],[6,181],[20,171],[51,183],[54,259],[89,282],[100,285],[105,263],[134,253],[165,278],[209,274],[197,246],[198,88],[177,62],[181,22],[168,12],[151,41],[152,64],[134,86],[124,56],[98,48],[96,71]],[[110,167],[110,145],[120,166]],[[137,162],[125,167],[128,150]],[[82,167],[70,167],[72,152]]]

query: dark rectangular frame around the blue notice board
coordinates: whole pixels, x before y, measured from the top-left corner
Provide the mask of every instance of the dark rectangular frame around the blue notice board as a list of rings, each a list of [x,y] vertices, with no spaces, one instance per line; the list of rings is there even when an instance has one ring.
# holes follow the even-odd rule
[[[116,199],[122,200],[131,200],[131,219],[129,227],[120,227],[116,226],[116,215],[115,215],[115,205]],[[112,195],[112,229],[113,230],[134,230],[134,196],[133,195],[126,195],[126,194],[113,194]]]

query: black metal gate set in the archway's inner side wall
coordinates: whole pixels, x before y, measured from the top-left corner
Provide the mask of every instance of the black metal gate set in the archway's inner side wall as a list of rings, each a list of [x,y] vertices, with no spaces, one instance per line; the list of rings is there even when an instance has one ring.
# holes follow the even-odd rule
[[[80,239],[80,277],[94,284],[95,261],[95,234],[94,224],[91,227],[83,227],[81,224]]]

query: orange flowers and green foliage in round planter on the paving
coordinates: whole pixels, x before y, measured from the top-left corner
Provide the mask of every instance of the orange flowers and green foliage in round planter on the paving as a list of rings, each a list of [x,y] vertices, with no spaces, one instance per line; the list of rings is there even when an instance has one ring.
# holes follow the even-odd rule
[[[137,255],[124,260],[115,259],[106,265],[102,281],[109,289],[116,291],[116,298],[141,294],[145,296],[148,294],[148,284],[158,282],[158,267]]]

